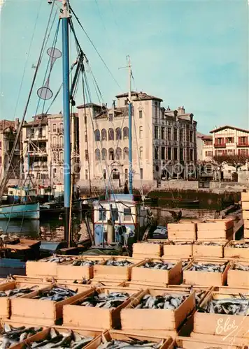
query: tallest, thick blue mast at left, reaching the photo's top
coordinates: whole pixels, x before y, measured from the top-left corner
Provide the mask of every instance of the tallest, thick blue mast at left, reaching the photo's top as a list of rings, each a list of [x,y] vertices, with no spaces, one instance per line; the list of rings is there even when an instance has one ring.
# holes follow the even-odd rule
[[[69,242],[69,216],[71,198],[70,160],[70,99],[69,99],[69,8],[62,0],[62,65],[63,65],[63,117],[64,117],[64,238]]]

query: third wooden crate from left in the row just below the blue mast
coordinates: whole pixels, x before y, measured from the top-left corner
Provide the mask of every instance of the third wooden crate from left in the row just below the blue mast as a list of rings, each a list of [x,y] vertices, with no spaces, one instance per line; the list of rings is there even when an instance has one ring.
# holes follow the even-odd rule
[[[131,265],[128,265],[126,267],[114,267],[111,265],[94,265],[94,279],[99,280],[119,280],[129,281],[131,279],[131,269],[135,267],[138,262],[141,262],[143,259],[135,259],[135,258],[129,258],[129,257],[113,257],[109,256],[108,258],[104,258],[104,261],[107,260],[128,260],[131,262]]]

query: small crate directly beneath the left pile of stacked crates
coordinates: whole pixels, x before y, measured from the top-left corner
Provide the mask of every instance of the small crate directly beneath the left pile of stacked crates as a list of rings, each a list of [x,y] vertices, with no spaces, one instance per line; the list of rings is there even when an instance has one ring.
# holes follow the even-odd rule
[[[162,258],[190,258],[193,255],[193,242],[166,241],[163,246]]]

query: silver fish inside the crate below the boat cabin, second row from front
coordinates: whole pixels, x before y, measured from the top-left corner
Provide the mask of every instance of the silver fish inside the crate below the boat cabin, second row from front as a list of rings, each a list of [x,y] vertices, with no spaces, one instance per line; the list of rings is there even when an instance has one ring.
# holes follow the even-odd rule
[[[129,293],[125,292],[110,292],[109,294],[94,292],[93,295],[85,298],[79,305],[111,309],[117,308],[117,306],[120,306],[129,297]]]

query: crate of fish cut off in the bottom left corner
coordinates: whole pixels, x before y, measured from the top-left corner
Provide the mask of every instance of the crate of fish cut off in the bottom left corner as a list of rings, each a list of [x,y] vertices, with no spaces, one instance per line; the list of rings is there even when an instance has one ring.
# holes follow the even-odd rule
[[[1,349],[27,348],[27,346],[25,346],[25,343],[27,343],[27,340],[41,332],[43,332],[43,327],[36,327],[36,326],[14,327],[13,325],[10,325],[8,322],[3,323],[0,326],[0,348]]]

